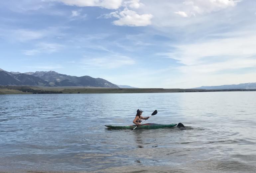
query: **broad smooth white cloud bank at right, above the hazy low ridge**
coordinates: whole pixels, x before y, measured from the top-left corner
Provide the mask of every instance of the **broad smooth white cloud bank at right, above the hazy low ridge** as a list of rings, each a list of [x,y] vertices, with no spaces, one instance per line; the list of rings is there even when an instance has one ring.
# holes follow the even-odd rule
[[[177,45],[176,50],[157,55],[168,56],[182,63],[177,70],[187,75],[187,79],[196,76],[211,81],[218,73],[220,77],[234,70],[256,68],[256,32],[227,35],[238,36]]]

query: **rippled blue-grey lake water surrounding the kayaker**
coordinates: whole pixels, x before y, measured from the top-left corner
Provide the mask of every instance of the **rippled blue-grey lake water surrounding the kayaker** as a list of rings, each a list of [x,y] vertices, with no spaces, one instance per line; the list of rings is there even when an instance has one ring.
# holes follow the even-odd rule
[[[256,172],[256,92],[0,95],[0,172]],[[187,130],[107,130],[182,122]]]

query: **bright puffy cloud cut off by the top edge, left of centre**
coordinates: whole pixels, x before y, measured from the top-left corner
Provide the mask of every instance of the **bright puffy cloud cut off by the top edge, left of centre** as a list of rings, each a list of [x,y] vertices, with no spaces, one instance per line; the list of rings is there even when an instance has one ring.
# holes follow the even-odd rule
[[[50,0],[62,2],[66,5],[78,7],[102,7],[106,9],[118,9],[122,5],[122,0]]]

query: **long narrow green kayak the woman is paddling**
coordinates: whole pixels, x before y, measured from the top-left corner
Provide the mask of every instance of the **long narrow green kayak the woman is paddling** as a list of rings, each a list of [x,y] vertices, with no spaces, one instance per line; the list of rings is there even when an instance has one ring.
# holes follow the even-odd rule
[[[148,123],[138,126],[136,129],[161,129],[161,128],[171,128],[176,126],[177,124],[155,124],[155,123]],[[112,125],[105,125],[109,129],[133,129],[136,125],[128,125],[128,126],[112,126]]]

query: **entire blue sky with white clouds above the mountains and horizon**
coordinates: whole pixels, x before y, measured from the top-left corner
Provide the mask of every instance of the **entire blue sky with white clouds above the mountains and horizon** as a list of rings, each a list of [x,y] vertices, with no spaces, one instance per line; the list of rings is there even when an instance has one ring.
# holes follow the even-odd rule
[[[0,1],[0,68],[140,88],[256,82],[256,1]]]

